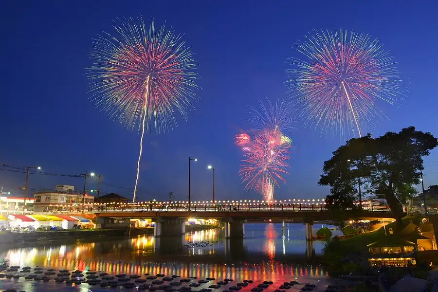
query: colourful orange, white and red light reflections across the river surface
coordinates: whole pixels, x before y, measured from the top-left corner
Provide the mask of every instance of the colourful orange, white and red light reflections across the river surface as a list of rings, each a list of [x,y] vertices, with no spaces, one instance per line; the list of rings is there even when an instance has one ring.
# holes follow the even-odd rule
[[[318,266],[284,264],[275,260],[283,254],[306,254],[306,240],[301,236],[301,233],[304,235],[304,228],[301,228],[304,226],[290,226],[282,230],[281,224],[248,225],[245,239],[237,240],[237,243],[224,239],[219,230],[203,230],[187,233],[181,238],[139,236],[91,243],[54,244],[51,247],[12,248],[0,251],[0,258],[9,258],[12,264],[19,266],[91,270],[110,274],[160,273],[218,279],[270,279],[274,282],[286,276],[289,280],[291,277],[325,277],[325,272]],[[196,246],[184,246],[187,243],[195,243]],[[320,253],[321,243],[318,244],[314,245],[316,254]],[[168,247],[172,247],[172,250],[168,251]],[[237,256],[258,253],[265,258],[256,264],[243,259],[239,264],[230,265],[222,261],[197,261],[195,257],[217,255],[225,258],[230,249]],[[161,254],[164,256],[161,257]],[[165,257],[167,254],[179,258]],[[181,257],[184,259],[180,261]]]

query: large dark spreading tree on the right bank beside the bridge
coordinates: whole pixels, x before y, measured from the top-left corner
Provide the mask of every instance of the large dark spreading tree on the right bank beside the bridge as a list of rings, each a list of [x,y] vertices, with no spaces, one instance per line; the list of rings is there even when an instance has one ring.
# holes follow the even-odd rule
[[[324,174],[318,182],[331,187],[328,208],[354,208],[365,183],[368,190],[384,195],[397,225],[402,226],[402,204],[415,194],[412,185],[420,183],[422,157],[436,146],[437,138],[415,127],[387,132],[375,139],[368,134],[347,141],[324,162]]]

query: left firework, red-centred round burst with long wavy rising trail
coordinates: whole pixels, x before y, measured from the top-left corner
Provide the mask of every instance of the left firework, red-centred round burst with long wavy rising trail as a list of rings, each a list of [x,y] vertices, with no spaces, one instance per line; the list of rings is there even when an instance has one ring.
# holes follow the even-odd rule
[[[135,201],[146,132],[177,126],[175,113],[186,118],[196,98],[197,78],[192,52],[180,35],[146,27],[142,19],[114,25],[115,35],[103,33],[93,40],[93,65],[87,73],[96,106],[126,128],[141,131],[135,180]]]

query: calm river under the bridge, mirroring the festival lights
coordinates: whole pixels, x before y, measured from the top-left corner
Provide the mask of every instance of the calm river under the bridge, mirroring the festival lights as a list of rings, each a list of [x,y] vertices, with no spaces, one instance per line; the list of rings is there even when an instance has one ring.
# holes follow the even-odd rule
[[[314,230],[319,227],[315,224]],[[337,231],[334,233],[337,234]],[[306,242],[302,224],[287,224],[283,230],[281,224],[252,223],[245,224],[244,239],[225,239],[223,232],[211,229],[190,232],[182,237],[138,236],[99,238],[92,242],[81,240],[46,245],[27,244],[19,248],[3,246],[0,247],[0,258],[7,258],[11,265],[21,267],[78,269],[128,275],[176,274],[185,278],[214,277],[216,282],[233,278],[234,284],[237,281],[254,280],[254,283],[274,281],[278,286],[285,281],[295,280],[315,283],[317,288],[321,286],[321,290],[314,291],[325,291],[329,282],[318,259],[322,246],[321,241],[314,241],[312,245]],[[0,290],[14,288],[11,281],[1,280]],[[20,279],[15,285],[26,292],[61,291],[53,290],[56,286],[52,282],[22,283]],[[41,285],[45,285],[44,289]],[[65,285],[62,287],[62,291],[101,291],[87,284],[68,287],[73,290],[66,290]],[[290,291],[298,291],[301,287],[294,286]]]

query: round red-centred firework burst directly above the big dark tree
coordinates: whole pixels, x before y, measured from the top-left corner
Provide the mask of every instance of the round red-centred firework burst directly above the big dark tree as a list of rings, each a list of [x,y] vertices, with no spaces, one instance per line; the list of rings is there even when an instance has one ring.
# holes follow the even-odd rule
[[[377,40],[347,31],[313,31],[296,45],[287,84],[297,102],[323,128],[362,136],[383,115],[377,102],[395,104],[403,95],[402,78],[393,58]]]

